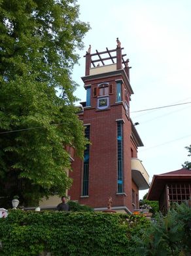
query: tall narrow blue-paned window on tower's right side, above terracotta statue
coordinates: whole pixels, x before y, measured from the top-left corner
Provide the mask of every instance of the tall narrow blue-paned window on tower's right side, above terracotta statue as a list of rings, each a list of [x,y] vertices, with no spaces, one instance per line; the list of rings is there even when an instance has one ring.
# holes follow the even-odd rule
[[[118,193],[123,192],[123,148],[122,148],[122,122],[117,122],[117,160],[118,160]]]

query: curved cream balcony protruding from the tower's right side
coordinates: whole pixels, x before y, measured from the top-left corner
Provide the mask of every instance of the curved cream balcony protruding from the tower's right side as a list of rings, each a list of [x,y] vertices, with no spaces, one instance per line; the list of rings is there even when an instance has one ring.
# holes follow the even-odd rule
[[[139,190],[149,188],[149,176],[143,163],[137,158],[131,158],[131,175]]]

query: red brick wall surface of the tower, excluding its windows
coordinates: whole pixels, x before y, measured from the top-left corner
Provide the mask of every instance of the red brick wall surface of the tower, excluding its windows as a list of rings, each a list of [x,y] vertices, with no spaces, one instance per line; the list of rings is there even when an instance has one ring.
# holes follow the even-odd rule
[[[87,198],[80,197],[82,189],[82,160],[75,158],[72,163],[73,186],[69,190],[71,200],[91,207],[107,207],[110,196],[114,206],[126,206],[132,211],[131,181],[131,148],[137,156],[137,150],[131,142],[131,122],[126,116],[122,103],[116,104],[116,77],[107,77],[88,81],[86,85],[94,87],[99,83],[113,84],[113,94],[109,96],[110,107],[107,110],[97,110],[97,97],[91,97],[91,108],[84,108],[84,124],[90,124],[90,162],[89,162],[89,193]],[[122,99],[124,85],[122,85]],[[117,123],[116,119],[124,119],[123,124],[123,161],[124,161],[124,194],[117,194]],[[133,184],[134,186],[134,184]],[[137,191],[137,190],[136,190]]]

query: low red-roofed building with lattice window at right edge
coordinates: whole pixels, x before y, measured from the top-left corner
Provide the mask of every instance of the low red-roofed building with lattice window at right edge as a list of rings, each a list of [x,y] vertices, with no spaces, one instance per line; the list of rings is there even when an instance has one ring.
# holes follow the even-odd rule
[[[148,200],[158,201],[159,209],[163,213],[173,205],[173,203],[188,202],[191,198],[191,171],[180,169],[154,175],[148,191]]]

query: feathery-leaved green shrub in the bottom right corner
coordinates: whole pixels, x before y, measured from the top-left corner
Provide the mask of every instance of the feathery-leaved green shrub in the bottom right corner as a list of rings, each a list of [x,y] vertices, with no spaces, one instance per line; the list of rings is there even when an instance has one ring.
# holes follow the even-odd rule
[[[155,222],[133,237],[134,255],[190,255],[191,208],[177,205],[164,217],[158,213]]]

